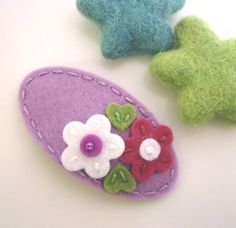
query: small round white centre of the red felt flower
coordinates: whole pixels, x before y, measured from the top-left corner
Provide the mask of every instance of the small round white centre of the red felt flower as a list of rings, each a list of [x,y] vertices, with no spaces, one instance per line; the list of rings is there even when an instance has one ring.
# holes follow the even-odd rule
[[[161,146],[155,139],[145,139],[140,145],[139,153],[144,160],[153,161],[160,155]]]

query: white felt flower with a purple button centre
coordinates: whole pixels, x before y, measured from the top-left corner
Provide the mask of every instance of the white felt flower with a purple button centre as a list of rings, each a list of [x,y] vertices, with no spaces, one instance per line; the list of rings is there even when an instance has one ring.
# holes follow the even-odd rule
[[[64,168],[70,172],[84,169],[94,179],[106,176],[110,160],[120,157],[125,149],[123,139],[110,131],[110,121],[100,114],[90,117],[86,124],[68,123],[63,130],[68,145],[61,155]]]

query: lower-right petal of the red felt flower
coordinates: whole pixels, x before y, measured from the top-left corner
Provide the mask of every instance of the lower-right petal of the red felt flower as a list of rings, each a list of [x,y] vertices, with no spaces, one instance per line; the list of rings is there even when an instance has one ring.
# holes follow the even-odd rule
[[[170,148],[162,148],[161,154],[155,161],[153,161],[153,164],[156,171],[164,172],[171,167],[172,161],[173,156],[171,154]]]

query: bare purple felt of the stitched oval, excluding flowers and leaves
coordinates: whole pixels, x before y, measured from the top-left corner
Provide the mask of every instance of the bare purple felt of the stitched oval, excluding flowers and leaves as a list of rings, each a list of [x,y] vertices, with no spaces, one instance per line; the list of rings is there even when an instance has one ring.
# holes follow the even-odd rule
[[[56,163],[61,165],[60,155],[67,147],[62,138],[63,128],[70,121],[86,122],[94,114],[105,115],[109,103],[131,103],[137,109],[137,118],[147,118],[153,126],[157,120],[144,105],[125,90],[94,74],[67,67],[48,67],[29,74],[20,88],[20,107],[26,125],[43,150]],[[112,132],[123,139],[129,136],[129,130]],[[138,183],[134,192],[120,192],[133,198],[153,198],[166,193],[177,177],[177,162],[172,150],[174,162],[171,169],[164,173],[155,173],[149,180]],[[111,162],[112,167],[117,160]],[[103,189],[102,179],[94,180],[84,171],[71,173]]]

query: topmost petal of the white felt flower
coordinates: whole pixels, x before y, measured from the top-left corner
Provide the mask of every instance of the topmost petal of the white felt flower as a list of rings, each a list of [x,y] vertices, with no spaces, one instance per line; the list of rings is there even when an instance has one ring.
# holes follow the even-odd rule
[[[111,123],[107,117],[101,114],[91,116],[86,122],[86,128],[92,133],[108,133],[111,131]]]

